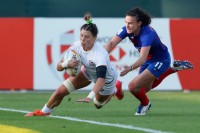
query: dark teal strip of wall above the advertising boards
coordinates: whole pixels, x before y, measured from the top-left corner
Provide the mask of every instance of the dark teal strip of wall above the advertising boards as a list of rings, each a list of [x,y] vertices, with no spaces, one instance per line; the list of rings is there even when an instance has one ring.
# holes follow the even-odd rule
[[[154,17],[199,18],[199,0],[1,0],[1,17],[124,17],[132,7],[142,7]]]

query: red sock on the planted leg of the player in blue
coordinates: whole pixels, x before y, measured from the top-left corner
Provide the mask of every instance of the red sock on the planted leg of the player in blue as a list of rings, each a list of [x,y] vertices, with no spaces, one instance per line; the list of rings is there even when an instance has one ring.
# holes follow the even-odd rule
[[[137,94],[131,92],[139,101],[142,106],[146,106],[149,103],[149,99],[146,95],[145,89],[140,88],[139,92]]]

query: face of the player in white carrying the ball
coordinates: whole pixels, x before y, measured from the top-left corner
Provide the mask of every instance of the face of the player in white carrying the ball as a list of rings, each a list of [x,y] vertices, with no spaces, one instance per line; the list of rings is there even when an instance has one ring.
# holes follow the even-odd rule
[[[96,40],[96,37],[94,37],[90,31],[86,31],[84,29],[81,30],[80,41],[85,51],[92,49],[92,47],[94,46],[95,40]]]

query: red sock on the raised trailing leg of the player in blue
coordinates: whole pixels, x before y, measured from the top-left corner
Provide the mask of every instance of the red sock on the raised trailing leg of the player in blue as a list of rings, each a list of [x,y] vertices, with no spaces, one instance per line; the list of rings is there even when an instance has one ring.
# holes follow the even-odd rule
[[[171,67],[169,69],[167,69],[167,71],[165,73],[163,73],[162,75],[160,75],[160,77],[158,79],[155,79],[152,85],[152,89],[157,87],[162,81],[163,79],[165,79],[168,75],[175,73],[177,71],[174,71]]]

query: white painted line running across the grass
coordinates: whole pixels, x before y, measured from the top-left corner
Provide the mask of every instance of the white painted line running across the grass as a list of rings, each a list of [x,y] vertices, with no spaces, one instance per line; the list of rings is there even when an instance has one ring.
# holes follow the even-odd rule
[[[10,111],[10,112],[29,113],[29,111],[25,111],[25,110],[16,110],[16,109],[7,109],[7,108],[0,108],[0,110]],[[66,117],[66,116],[50,115],[48,117],[65,119],[65,120],[70,120],[70,121],[85,122],[85,123],[90,123],[90,124],[95,124],[95,125],[103,125],[103,126],[110,126],[110,127],[117,127],[117,128],[132,129],[132,130],[143,131],[143,132],[146,132],[146,133],[172,133],[172,132],[163,132],[163,131],[159,131],[159,130],[153,130],[153,129],[149,129],[149,128],[135,127],[135,126],[132,126],[132,125],[123,125],[123,124],[117,124],[117,123],[114,124],[114,123],[98,122],[98,121],[92,121],[92,120],[83,120],[83,119]]]

